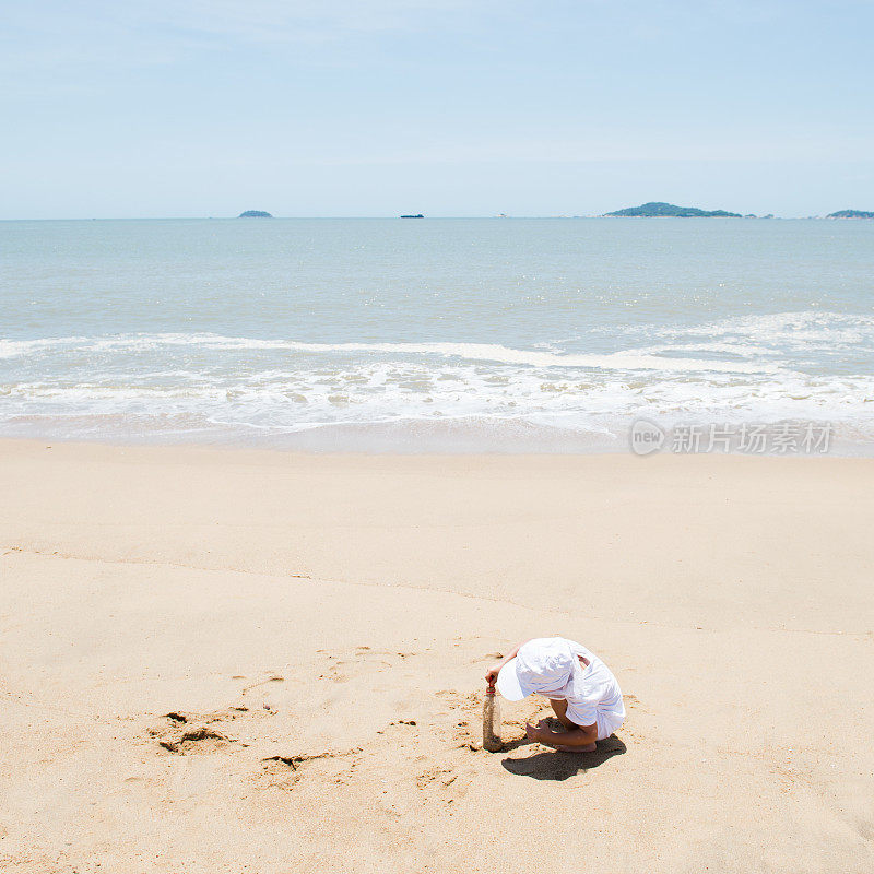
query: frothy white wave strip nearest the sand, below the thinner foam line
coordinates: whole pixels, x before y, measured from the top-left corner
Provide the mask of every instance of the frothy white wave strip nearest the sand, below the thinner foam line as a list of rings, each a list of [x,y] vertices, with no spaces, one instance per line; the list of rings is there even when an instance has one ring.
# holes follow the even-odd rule
[[[440,417],[506,413],[576,415],[631,414],[647,408],[659,413],[724,411],[769,416],[823,414],[871,415],[874,375],[816,377],[779,374],[776,378],[739,378],[713,374],[708,379],[623,378],[601,374],[496,371],[473,364],[434,369],[422,364],[369,364],[302,370],[255,370],[215,376],[176,375],[172,380],[55,377],[0,383],[0,415],[26,410],[87,412],[221,412],[240,422],[377,421],[408,415]]]

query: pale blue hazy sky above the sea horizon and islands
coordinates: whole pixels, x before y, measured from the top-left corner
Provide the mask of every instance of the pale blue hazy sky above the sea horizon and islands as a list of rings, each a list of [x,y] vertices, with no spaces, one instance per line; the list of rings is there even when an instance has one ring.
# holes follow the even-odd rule
[[[0,217],[874,210],[874,0],[0,0]]]

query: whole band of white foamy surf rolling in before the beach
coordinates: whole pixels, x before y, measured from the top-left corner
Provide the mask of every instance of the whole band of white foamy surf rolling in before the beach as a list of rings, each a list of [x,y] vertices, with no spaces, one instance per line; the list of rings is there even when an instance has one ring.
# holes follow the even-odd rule
[[[123,435],[127,422],[128,435],[390,427],[398,437],[477,422],[495,439],[501,428],[517,436],[541,428],[588,440],[614,439],[642,415],[830,420],[874,444],[874,316],[783,312],[616,326],[610,342],[595,329],[562,336],[529,349],[202,331],[4,339],[0,433]]]

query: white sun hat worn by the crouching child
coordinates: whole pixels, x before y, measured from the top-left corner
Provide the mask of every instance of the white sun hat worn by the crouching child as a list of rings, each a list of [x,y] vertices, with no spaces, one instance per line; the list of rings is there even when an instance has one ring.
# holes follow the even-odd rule
[[[580,675],[579,662],[563,637],[538,637],[519,647],[498,674],[498,692],[508,701],[521,701],[529,695],[571,694]]]

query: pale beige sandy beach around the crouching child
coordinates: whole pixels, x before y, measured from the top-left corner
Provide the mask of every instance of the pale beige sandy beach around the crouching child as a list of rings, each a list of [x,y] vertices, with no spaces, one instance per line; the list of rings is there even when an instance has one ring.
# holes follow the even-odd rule
[[[0,488],[4,873],[874,870],[870,460],[8,441]],[[552,634],[625,727],[475,748]]]

